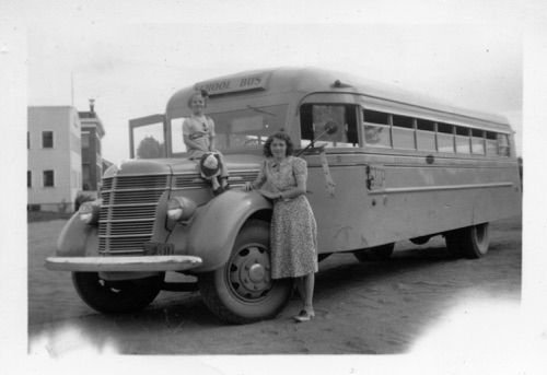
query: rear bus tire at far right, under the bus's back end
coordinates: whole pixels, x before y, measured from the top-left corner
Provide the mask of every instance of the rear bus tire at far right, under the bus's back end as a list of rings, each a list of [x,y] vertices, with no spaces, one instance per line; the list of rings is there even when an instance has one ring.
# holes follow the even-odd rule
[[[472,225],[446,233],[446,247],[453,257],[479,259],[488,253],[490,244],[488,223]]]

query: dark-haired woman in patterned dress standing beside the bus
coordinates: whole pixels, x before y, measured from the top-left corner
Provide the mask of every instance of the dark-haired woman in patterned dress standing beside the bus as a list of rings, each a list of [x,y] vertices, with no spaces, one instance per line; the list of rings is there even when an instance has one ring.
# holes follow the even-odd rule
[[[303,308],[296,321],[315,317],[313,289],[317,272],[317,225],[305,197],[307,165],[303,159],[292,156],[293,144],[284,132],[270,136],[264,144],[266,160],[254,183],[246,183],[244,191],[260,189],[274,200],[270,230],[271,278],[296,278],[296,288]],[[269,188],[264,188],[265,184]]]

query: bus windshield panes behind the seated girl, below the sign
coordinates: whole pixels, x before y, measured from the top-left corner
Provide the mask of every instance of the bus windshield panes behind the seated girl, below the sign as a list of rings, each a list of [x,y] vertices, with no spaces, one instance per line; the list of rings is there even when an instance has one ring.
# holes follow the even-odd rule
[[[210,108],[206,116],[214,121],[216,143],[220,151],[261,148],[266,139],[284,128],[287,104],[243,109],[214,112]],[[184,117],[171,120],[173,156],[186,152],[183,141]]]

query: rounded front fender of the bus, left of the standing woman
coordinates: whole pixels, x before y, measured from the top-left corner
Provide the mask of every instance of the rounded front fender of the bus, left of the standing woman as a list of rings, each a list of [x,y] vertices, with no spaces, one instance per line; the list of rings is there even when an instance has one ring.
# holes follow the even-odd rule
[[[185,243],[185,254],[202,259],[196,272],[218,269],[228,261],[243,224],[263,210],[271,211],[272,204],[258,191],[228,190],[200,208],[189,225],[173,231],[168,242],[175,247]]]

